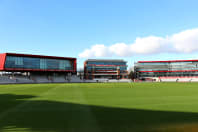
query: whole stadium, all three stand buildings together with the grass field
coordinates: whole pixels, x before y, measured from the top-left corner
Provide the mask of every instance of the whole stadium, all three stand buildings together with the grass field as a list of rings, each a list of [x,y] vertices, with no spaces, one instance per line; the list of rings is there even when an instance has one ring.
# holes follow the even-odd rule
[[[135,63],[136,80],[158,81],[149,83],[126,81],[124,60],[88,59],[80,79],[76,62],[1,54],[0,131],[198,131],[197,60]]]

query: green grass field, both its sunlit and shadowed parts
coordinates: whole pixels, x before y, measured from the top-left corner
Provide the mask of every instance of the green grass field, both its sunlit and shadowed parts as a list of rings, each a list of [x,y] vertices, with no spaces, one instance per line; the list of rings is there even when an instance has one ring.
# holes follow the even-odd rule
[[[0,132],[197,132],[198,83],[0,85]]]

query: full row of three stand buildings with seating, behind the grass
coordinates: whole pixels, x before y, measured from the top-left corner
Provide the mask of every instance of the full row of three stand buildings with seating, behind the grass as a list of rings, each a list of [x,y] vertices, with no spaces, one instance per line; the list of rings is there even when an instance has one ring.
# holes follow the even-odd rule
[[[78,75],[76,61],[71,57],[2,53],[0,84],[131,82],[124,60],[88,59]],[[138,61],[134,74],[138,82],[198,82],[198,60]]]

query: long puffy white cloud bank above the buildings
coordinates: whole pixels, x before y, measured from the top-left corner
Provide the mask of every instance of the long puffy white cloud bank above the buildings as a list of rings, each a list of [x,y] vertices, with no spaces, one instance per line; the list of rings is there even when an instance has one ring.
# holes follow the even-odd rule
[[[111,46],[93,45],[79,54],[81,58],[133,56],[167,52],[192,53],[198,51],[198,28],[186,30],[167,37],[148,36],[136,38],[132,44],[116,43]]]

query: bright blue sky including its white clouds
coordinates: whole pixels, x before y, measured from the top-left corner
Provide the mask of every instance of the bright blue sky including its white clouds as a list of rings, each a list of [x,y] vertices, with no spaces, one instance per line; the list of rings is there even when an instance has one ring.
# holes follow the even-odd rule
[[[198,59],[197,5],[197,0],[0,0],[0,52],[77,57],[79,67],[83,53],[122,58],[129,66],[138,60]],[[93,54],[96,45],[105,48]]]

